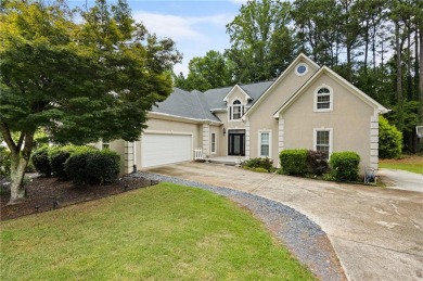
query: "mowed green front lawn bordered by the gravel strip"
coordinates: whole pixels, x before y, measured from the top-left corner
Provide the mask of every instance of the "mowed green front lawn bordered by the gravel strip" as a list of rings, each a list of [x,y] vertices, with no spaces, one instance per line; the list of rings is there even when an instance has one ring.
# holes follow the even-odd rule
[[[3,221],[0,233],[2,280],[315,279],[247,210],[170,183]]]

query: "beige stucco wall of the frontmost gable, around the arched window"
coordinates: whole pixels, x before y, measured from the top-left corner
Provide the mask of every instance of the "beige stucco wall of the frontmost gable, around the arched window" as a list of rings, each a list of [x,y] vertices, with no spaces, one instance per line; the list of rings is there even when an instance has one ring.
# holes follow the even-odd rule
[[[333,89],[333,112],[315,112],[315,91],[323,84]],[[370,119],[374,108],[323,74],[282,114],[284,149],[313,149],[313,129],[332,128],[332,152],[355,151],[370,166]]]

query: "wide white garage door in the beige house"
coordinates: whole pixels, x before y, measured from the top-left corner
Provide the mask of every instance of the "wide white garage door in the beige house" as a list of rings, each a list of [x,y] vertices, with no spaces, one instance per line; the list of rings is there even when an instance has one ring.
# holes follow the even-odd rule
[[[192,159],[192,136],[144,133],[142,136],[142,167]]]

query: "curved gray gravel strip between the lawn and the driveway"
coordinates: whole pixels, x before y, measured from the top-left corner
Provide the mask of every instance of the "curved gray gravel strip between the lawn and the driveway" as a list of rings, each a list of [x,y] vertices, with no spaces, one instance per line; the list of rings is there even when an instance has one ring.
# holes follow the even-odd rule
[[[346,280],[334,250],[321,228],[305,215],[281,203],[246,192],[138,171],[131,177],[172,182],[208,190],[249,209],[266,227],[321,280]]]

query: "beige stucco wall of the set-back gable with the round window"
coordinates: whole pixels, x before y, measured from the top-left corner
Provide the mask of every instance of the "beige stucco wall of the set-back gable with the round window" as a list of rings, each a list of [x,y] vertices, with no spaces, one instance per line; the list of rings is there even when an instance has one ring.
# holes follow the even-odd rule
[[[298,63],[306,64],[305,61]],[[259,106],[255,107],[251,114],[248,114],[249,122],[249,157],[259,157],[259,131],[271,131],[271,157],[273,164],[278,165],[279,162],[279,128],[278,120],[273,118],[273,114],[303,86],[315,73],[316,69],[308,65],[308,72],[298,76],[295,73],[295,66],[291,72],[273,85],[272,90],[267,93],[262,99]]]

